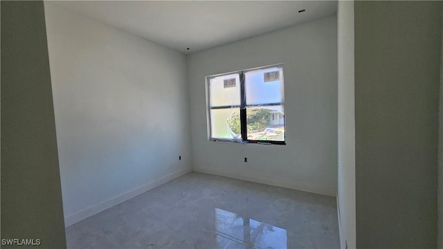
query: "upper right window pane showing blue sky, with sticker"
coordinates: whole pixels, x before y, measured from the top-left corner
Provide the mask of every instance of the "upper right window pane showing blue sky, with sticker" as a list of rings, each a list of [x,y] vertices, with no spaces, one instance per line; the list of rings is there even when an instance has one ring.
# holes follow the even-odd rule
[[[283,69],[273,67],[244,74],[246,105],[283,102]]]

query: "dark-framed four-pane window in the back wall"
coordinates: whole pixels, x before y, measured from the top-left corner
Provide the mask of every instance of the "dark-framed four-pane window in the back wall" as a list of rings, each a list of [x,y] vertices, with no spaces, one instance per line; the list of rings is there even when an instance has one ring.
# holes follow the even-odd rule
[[[282,65],[209,76],[210,140],[284,145]]]

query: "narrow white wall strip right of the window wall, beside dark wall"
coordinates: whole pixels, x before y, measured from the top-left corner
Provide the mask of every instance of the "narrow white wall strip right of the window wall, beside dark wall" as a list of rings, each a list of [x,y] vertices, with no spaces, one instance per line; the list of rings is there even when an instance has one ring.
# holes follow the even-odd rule
[[[355,248],[354,1],[338,1],[338,191],[341,248]]]

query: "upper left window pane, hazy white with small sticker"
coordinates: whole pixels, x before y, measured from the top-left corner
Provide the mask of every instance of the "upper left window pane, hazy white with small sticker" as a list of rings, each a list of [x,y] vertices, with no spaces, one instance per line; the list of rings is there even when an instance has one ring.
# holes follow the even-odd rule
[[[239,74],[209,78],[210,107],[240,105]]]

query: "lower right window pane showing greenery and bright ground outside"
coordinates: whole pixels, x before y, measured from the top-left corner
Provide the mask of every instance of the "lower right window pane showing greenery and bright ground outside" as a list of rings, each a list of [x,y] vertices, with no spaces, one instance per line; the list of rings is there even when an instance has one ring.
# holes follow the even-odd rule
[[[248,107],[246,125],[248,140],[284,141],[283,106]]]

